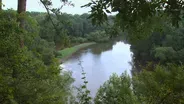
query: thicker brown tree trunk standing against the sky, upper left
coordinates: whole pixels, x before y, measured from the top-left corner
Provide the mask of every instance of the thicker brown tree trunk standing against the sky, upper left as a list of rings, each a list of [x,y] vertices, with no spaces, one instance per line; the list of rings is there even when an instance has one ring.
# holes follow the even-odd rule
[[[26,0],[18,0],[17,12],[19,15],[26,12]],[[19,16],[17,21],[20,23],[19,24],[20,28],[24,29],[24,19],[20,18],[20,16]],[[24,47],[23,35],[20,36],[20,47],[21,48]]]

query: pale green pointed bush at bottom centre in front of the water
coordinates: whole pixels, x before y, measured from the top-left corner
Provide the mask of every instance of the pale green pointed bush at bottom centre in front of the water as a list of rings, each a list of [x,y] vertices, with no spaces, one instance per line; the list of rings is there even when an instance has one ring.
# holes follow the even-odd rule
[[[113,74],[95,97],[95,104],[138,104],[131,89],[131,78],[126,74]]]

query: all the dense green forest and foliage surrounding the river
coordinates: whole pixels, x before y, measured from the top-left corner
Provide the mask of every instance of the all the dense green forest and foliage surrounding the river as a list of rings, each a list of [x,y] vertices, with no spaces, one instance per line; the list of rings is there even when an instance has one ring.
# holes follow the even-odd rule
[[[92,0],[82,15],[51,0],[40,0],[46,13],[28,12],[17,1],[17,10],[2,10],[0,0],[0,104],[184,104],[182,0]],[[82,70],[76,96],[58,50],[117,36],[131,45],[132,76],[113,74],[91,98]]]

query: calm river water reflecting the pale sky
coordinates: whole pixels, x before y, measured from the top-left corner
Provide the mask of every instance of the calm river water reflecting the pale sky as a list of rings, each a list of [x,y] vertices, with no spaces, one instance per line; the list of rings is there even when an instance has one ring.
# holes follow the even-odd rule
[[[123,42],[109,42],[103,44],[94,44],[82,49],[66,60],[62,66],[66,70],[72,71],[75,78],[74,86],[79,87],[83,80],[81,79],[81,67],[79,60],[86,73],[88,89],[91,96],[94,97],[100,85],[103,85],[112,75],[117,73],[121,75],[127,71],[130,74],[131,65],[130,45]]]

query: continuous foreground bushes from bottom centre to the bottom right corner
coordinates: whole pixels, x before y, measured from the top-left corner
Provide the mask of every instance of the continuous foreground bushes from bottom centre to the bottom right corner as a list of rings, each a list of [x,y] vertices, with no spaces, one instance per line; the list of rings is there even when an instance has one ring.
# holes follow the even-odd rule
[[[113,74],[98,90],[95,104],[183,104],[184,67],[157,65],[131,78]]]

